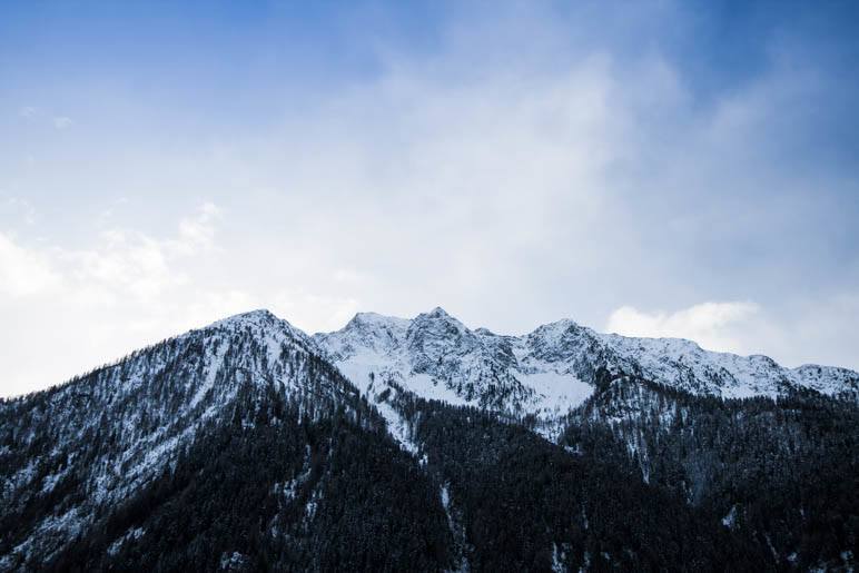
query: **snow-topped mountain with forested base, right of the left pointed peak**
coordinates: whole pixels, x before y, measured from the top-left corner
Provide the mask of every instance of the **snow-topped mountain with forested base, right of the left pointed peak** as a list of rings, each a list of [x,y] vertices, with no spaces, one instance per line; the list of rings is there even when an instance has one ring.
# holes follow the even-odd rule
[[[472,332],[442,309],[413,320],[357,315],[315,339],[445,484],[445,505],[465,547],[458,554],[473,567],[539,569],[550,561],[559,571],[853,567],[855,372],[789,369],[763,356],[603,335],[570,320],[498,336]],[[584,392],[570,392],[582,386]],[[575,461],[586,461],[586,470],[567,466],[569,458],[550,462],[549,451],[536,455],[540,442],[513,446],[511,426],[490,429],[498,422],[557,441]],[[546,475],[546,464],[547,490],[529,490],[534,475]],[[570,473],[577,480],[561,488],[571,498],[547,493]],[[612,485],[602,490],[606,480]],[[494,496],[488,505],[485,492]],[[551,496],[545,506],[542,495]],[[641,496],[643,505],[632,501]],[[530,501],[523,504],[523,497]],[[611,510],[619,500],[625,500],[623,508]],[[650,503],[661,510],[650,513]],[[535,507],[542,510],[529,513]],[[555,518],[576,527],[572,537],[569,530],[543,525],[547,537],[521,545],[514,541],[520,534],[504,526],[545,524],[559,508]],[[675,521],[661,522],[667,515]],[[488,531],[486,521],[493,523]],[[732,535],[719,539],[725,530]],[[625,531],[623,541],[610,541],[618,531]],[[691,551],[683,547],[690,534]],[[498,539],[506,540],[505,550]],[[714,561],[711,542],[722,555]],[[651,544],[660,549],[648,551]],[[730,565],[730,559],[738,561]]]

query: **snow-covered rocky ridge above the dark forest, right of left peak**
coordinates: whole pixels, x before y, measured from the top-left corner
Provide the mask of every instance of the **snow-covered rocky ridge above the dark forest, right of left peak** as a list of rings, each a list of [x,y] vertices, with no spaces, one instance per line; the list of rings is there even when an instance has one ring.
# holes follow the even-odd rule
[[[364,391],[371,374],[383,375],[423,397],[539,417],[580,405],[603,371],[724,398],[859,388],[859,374],[847,368],[786,368],[766,356],[704,350],[680,338],[601,334],[570,319],[506,336],[472,330],[442,308],[411,320],[359,313],[343,329],[314,340]]]

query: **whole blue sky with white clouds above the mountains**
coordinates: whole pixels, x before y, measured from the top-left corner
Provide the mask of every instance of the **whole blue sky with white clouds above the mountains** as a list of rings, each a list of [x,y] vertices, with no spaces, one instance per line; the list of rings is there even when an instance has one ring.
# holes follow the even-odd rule
[[[852,2],[0,12],[0,396],[254,308],[859,369]]]

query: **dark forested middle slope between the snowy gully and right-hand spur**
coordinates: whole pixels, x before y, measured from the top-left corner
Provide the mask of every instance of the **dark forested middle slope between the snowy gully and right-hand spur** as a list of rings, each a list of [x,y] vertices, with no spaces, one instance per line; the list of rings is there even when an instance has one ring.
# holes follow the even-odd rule
[[[474,571],[766,569],[754,545],[642,482],[616,441],[571,453],[471,407],[396,398]]]

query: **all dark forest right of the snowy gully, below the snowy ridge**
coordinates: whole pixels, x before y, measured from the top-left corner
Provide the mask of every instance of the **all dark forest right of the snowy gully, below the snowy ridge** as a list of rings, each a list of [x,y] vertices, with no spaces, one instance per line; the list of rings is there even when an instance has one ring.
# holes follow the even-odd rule
[[[450,486],[474,570],[852,566],[853,403],[813,391],[723,401],[598,379],[561,446],[392,385],[387,401]]]

